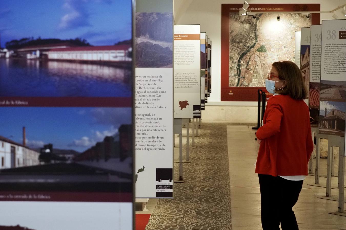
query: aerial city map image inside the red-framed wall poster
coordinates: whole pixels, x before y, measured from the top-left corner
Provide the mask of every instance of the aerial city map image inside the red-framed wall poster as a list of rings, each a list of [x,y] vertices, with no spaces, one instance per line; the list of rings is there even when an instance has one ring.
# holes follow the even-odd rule
[[[261,13],[256,18],[229,13],[229,87],[265,87],[274,61],[294,62],[295,35],[310,27],[311,18],[298,13]]]

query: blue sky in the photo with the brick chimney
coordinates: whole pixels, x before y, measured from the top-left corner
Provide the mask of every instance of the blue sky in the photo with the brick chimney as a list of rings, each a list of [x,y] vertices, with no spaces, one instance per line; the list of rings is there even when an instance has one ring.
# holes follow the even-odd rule
[[[83,152],[131,123],[131,108],[86,107],[0,107],[0,136],[22,143],[26,129],[27,146]]]

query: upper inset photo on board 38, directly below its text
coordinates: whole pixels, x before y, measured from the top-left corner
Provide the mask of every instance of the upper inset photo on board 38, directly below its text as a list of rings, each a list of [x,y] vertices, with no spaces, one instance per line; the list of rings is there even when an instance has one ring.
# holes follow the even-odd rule
[[[346,81],[321,81],[320,90],[321,100],[346,100]]]

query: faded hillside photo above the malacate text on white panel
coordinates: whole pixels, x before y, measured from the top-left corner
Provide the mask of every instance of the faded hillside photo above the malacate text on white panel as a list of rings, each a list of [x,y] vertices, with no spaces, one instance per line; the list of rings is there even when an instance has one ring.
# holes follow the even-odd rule
[[[136,67],[173,67],[172,13],[136,13]]]

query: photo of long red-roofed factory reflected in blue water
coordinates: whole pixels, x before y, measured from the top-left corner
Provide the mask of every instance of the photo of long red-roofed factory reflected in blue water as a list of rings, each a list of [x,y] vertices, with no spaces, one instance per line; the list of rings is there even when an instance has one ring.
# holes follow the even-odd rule
[[[131,1],[41,4],[1,4],[0,97],[131,97]]]

